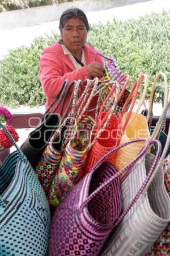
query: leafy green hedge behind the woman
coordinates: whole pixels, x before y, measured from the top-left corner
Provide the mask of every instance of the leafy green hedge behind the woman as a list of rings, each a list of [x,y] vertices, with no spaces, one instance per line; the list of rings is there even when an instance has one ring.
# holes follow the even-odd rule
[[[121,71],[131,76],[148,75],[151,83],[156,73],[165,72],[170,79],[170,14],[145,15],[125,22],[113,20],[105,25],[92,26],[88,43],[114,57]],[[42,49],[58,40],[59,35],[37,38],[31,47],[11,51],[0,66],[0,103],[5,106],[37,106],[44,104],[38,73]],[[150,96],[148,88],[147,97]],[[10,98],[10,100],[8,100]]]

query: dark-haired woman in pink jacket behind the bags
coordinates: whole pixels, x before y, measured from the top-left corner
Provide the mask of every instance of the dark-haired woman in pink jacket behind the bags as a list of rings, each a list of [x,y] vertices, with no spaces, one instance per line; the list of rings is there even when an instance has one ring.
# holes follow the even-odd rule
[[[83,11],[77,8],[66,10],[59,19],[59,30],[62,40],[44,49],[40,59],[39,76],[46,96],[45,108],[53,101],[65,79],[83,81],[104,75],[103,61],[96,54],[97,50],[86,44],[90,26]],[[90,109],[95,106],[96,98]]]

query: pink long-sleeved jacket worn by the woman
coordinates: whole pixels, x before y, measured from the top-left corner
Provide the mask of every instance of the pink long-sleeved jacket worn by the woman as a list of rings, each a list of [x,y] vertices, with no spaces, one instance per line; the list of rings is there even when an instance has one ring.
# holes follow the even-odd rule
[[[95,53],[97,50],[94,47],[85,44],[83,49],[86,65],[90,64],[92,61],[103,63],[101,57]],[[46,96],[46,109],[53,101],[59,89],[61,89],[65,79],[69,79],[70,84],[74,80],[80,79],[83,81],[86,78],[91,78],[88,74],[86,66],[75,69],[69,55],[63,54],[63,49],[58,42],[42,51],[39,64],[39,77]],[[70,96],[72,92],[73,90],[70,90]],[[67,103],[69,102],[69,98],[66,101],[64,111],[66,109]],[[96,97],[92,100],[90,109],[95,108],[95,106]],[[60,112],[60,108],[57,109],[57,112]]]

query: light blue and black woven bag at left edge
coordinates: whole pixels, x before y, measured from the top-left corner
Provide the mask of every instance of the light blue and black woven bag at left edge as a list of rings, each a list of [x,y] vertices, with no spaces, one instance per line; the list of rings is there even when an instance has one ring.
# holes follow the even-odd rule
[[[0,167],[0,255],[48,254],[50,211],[45,193],[27,158],[16,147]]]

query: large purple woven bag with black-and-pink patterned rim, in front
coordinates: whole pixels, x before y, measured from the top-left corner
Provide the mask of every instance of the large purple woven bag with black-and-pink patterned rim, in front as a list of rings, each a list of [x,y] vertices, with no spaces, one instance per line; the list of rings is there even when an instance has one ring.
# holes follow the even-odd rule
[[[112,164],[102,161],[113,151],[133,142],[144,141],[145,146],[128,164],[117,172]],[[56,208],[50,229],[49,256],[97,256],[120,215],[121,194],[118,176],[130,172],[133,165],[148,150],[147,139],[135,139],[106,154],[65,197]],[[126,175],[125,175],[126,176]]]

